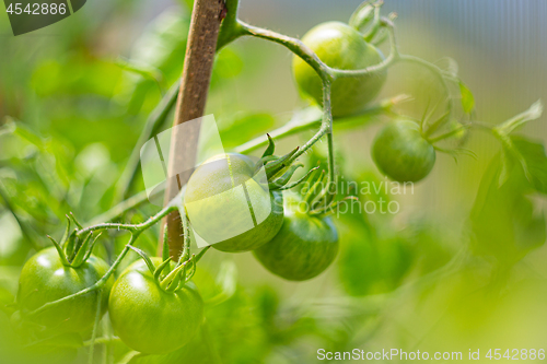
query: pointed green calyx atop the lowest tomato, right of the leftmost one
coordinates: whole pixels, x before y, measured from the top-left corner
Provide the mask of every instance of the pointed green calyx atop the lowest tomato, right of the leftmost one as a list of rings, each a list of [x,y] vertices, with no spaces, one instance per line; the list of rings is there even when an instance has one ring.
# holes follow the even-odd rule
[[[154,278],[158,286],[164,292],[173,293],[181,290],[196,273],[196,263],[201,259],[208,248],[202,249],[196,256],[187,258],[183,255],[181,260],[172,267],[171,257],[164,259],[158,267],[154,266],[152,259],[141,249],[128,245],[128,247],[137,253],[142,260],[147,263],[150,273]]]

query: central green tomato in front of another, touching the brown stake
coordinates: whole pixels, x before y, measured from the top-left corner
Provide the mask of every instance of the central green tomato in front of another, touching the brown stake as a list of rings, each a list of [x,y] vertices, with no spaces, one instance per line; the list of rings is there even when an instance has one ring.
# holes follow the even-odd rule
[[[194,231],[213,248],[248,251],[269,242],[283,223],[281,192],[243,154],[221,154],[191,175],[184,203]]]

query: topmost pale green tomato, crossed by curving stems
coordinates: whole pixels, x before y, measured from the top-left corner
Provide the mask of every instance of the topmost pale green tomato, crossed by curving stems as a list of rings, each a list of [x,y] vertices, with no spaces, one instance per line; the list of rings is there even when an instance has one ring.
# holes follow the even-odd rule
[[[382,52],[363,39],[363,35],[340,22],[323,23],[307,32],[302,42],[327,66],[340,70],[359,70],[384,60]],[[294,56],[294,79],[300,90],[323,104],[323,84],[311,66]],[[359,114],[377,96],[387,78],[386,72],[359,78],[338,79],[333,83],[333,116]]]

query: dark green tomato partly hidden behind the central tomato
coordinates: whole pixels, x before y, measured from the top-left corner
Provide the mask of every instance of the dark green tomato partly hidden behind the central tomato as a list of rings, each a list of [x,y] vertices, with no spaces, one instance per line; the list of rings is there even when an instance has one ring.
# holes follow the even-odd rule
[[[338,233],[330,218],[311,216],[287,204],[283,226],[253,251],[270,272],[290,281],[312,279],[330,266],[338,253]]]

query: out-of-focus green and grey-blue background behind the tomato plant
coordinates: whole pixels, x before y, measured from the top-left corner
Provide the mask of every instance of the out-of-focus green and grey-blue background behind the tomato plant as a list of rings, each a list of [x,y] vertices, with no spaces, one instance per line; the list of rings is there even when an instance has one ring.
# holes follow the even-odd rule
[[[119,201],[116,181],[147,116],[181,74],[189,2],[90,0],[62,22],[18,37],[7,14],[0,14],[3,304],[12,302],[21,266],[47,244],[46,234],[61,235],[66,213],[89,222]],[[359,3],[242,0],[241,17],[300,37],[321,22],[347,21]],[[444,57],[457,61],[475,95],[477,120],[498,124],[547,99],[546,1],[387,0],[384,12],[389,11],[398,14],[403,52],[440,67],[449,64]],[[240,39],[219,54],[208,114],[219,121],[226,145],[271,130],[307,105],[294,87],[291,59],[284,48],[258,39]],[[398,64],[389,70],[381,97],[397,94],[412,96],[397,110],[420,117],[439,89],[423,70]],[[348,180],[385,183],[370,158],[384,119],[337,130],[339,172]],[[545,141],[545,121],[521,132]],[[289,151],[307,137],[284,140],[279,150]],[[306,156],[310,164],[324,146]],[[547,349],[545,226],[537,232],[526,220],[545,224],[545,199],[509,188],[491,197],[487,203],[494,208],[481,215],[479,185],[500,148],[480,131],[468,137],[466,148],[477,157],[455,163],[439,155],[414,193],[362,196],[396,200],[400,211],[337,219],[338,259],[310,282],[282,281],[251,254],[209,253],[196,278],[203,295],[213,294],[218,267],[226,259],[238,272],[234,296],[207,314],[222,362],[313,363],[319,348],[461,351],[464,360],[470,349],[489,362],[484,359],[489,349]],[[142,188],[138,178],[132,193]],[[531,203],[526,212],[516,209],[515,200]],[[143,204],[124,220],[141,221],[154,211]],[[158,234],[159,228],[148,232],[140,246],[155,251]],[[125,242],[126,236],[110,233],[97,254],[112,259]],[[9,326],[5,317],[2,327]],[[103,330],[109,332],[107,324]],[[212,362],[202,342],[189,347],[177,360]],[[97,351],[97,363],[127,353],[119,343]],[[78,357],[84,353],[79,349]]]

